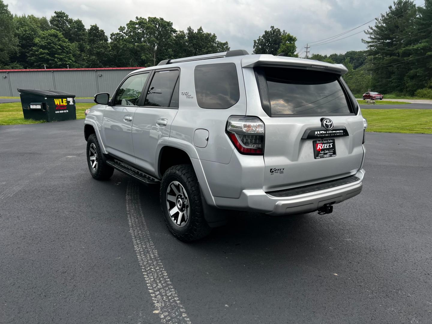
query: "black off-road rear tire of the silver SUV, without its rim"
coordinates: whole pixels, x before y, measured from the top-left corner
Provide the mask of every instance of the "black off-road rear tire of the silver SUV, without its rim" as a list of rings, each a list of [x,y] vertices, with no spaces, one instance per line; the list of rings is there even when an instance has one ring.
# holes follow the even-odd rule
[[[167,190],[173,181],[181,184],[187,194],[190,210],[189,217],[183,227],[177,226],[168,212]],[[204,219],[200,185],[192,165],[182,164],[168,168],[162,177],[159,197],[166,226],[175,238],[190,242],[210,234],[211,228]]]

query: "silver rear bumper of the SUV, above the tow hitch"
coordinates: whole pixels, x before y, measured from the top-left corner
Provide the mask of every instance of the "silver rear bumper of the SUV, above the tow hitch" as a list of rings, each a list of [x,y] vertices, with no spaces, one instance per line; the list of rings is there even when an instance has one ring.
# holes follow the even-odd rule
[[[262,189],[243,190],[239,198],[214,197],[216,206],[224,209],[235,209],[266,213],[269,215],[288,215],[308,213],[318,210],[326,203],[340,203],[352,198],[362,191],[365,171],[359,170],[354,176],[359,180],[326,189],[292,194],[288,197],[275,197]]]

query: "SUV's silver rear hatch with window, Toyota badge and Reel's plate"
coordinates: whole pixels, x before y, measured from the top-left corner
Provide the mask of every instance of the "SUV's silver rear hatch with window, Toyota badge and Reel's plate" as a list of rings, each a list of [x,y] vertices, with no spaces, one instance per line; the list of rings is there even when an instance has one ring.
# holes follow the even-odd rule
[[[258,66],[253,72],[261,101],[258,117],[265,125],[264,191],[358,171],[363,118],[340,73],[286,66]],[[250,104],[248,98],[248,115]]]

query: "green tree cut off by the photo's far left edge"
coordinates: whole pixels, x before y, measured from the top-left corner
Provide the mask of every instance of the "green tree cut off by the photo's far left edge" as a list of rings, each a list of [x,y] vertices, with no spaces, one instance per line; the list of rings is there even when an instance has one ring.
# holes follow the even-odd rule
[[[15,35],[13,15],[7,9],[8,5],[0,0],[0,67],[10,64],[10,56],[18,51],[18,39]]]

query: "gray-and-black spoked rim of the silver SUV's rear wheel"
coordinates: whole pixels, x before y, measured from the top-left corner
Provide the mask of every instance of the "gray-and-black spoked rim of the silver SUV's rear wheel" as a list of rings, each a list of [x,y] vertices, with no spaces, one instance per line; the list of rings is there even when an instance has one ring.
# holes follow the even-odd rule
[[[183,227],[189,220],[190,206],[186,190],[178,181],[172,181],[166,189],[166,206],[175,226]]]

